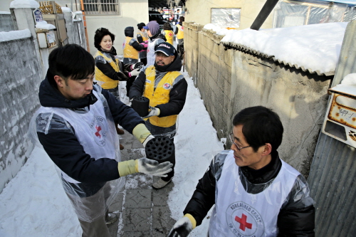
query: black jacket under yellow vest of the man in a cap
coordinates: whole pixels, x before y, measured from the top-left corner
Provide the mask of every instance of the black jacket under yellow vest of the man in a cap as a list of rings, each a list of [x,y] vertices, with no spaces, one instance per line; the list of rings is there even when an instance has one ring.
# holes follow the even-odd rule
[[[167,72],[171,71],[180,71],[182,68],[182,60],[180,60],[177,51],[175,52],[174,61],[164,70],[159,71],[156,69],[156,78],[155,85],[157,85],[157,80],[163,78],[163,76]],[[130,88],[129,98],[140,97],[143,95],[145,90],[145,68],[141,71],[141,73],[137,76],[135,82],[132,84]],[[182,111],[185,103],[185,99],[187,96],[187,81],[184,79],[183,75],[179,75],[178,78],[174,80],[174,84],[172,85],[172,89],[169,92],[169,102],[162,105],[156,105],[159,108],[160,114],[158,117],[166,117],[169,115],[178,115],[179,112]]]

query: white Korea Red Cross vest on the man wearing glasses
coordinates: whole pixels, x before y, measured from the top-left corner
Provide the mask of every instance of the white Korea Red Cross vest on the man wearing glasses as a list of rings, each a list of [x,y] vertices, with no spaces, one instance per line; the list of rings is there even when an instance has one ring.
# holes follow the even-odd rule
[[[272,237],[277,218],[299,172],[286,162],[273,182],[259,194],[248,194],[239,177],[233,151],[227,155],[216,183],[210,237]]]

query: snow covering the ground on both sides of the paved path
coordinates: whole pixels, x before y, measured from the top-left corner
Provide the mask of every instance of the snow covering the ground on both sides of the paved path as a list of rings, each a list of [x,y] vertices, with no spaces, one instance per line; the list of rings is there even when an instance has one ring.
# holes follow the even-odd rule
[[[198,180],[209,167],[211,157],[204,154],[224,149],[192,78],[187,73],[184,76],[188,82],[187,102],[179,115],[174,138],[177,164],[174,188],[168,201],[176,220],[183,216]],[[132,181],[129,185],[135,186],[136,183]],[[63,191],[53,162],[42,149],[33,149],[26,164],[0,194],[0,200],[1,237],[80,236],[81,229],[73,207]],[[191,236],[205,236],[208,221],[205,219]]]

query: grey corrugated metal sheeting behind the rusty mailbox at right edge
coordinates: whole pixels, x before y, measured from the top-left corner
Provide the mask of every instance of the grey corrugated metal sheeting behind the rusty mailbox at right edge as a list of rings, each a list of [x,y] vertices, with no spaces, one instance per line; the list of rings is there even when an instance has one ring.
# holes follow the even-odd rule
[[[333,85],[356,73],[356,21],[347,25]],[[308,183],[315,201],[315,236],[356,236],[356,149],[320,133]]]

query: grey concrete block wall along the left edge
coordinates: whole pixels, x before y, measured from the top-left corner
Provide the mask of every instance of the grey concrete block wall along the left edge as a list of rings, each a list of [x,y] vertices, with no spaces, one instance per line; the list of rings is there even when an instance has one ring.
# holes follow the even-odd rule
[[[39,106],[38,88],[43,78],[32,38],[0,42],[0,48],[1,192],[32,152],[26,132],[33,112]]]

